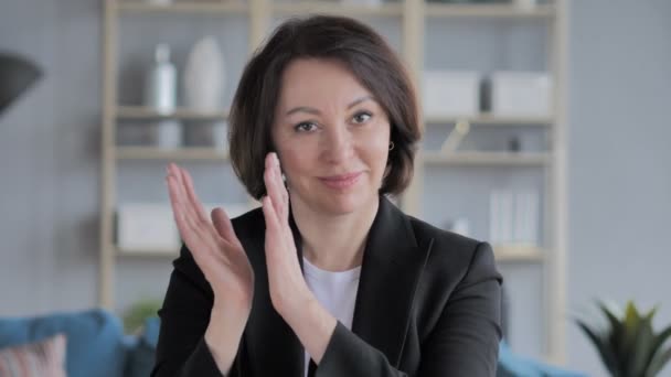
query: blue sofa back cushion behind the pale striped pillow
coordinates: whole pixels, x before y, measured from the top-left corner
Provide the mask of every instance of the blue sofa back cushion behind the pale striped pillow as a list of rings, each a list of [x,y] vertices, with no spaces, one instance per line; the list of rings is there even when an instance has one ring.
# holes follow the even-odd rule
[[[0,317],[0,348],[39,342],[57,333],[67,337],[67,376],[124,376],[126,349],[121,323],[107,311]]]

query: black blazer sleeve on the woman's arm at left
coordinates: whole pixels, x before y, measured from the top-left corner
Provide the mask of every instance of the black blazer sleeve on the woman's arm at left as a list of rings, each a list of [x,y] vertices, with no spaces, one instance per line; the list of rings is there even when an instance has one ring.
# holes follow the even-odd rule
[[[191,251],[182,246],[159,316],[161,327],[152,377],[222,377],[205,343],[213,293]],[[228,376],[238,377],[243,345]]]

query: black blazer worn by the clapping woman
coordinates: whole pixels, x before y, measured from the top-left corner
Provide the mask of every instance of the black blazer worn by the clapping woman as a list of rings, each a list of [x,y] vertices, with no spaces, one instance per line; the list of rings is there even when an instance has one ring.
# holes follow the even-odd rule
[[[290,217],[302,263],[300,234]],[[233,219],[255,272],[252,312],[230,376],[302,377],[303,347],[270,302],[260,208]],[[182,247],[151,376],[222,376],[204,342],[213,292]],[[381,196],[352,331],[340,322],[316,377],[494,376],[501,277],[490,246],[403,214]]]

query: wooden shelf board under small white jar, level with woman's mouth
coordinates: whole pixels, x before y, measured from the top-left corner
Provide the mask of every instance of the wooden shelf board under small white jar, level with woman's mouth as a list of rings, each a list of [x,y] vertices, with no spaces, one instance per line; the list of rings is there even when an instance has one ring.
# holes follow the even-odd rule
[[[210,147],[160,149],[155,147],[117,147],[119,160],[199,160],[227,161],[228,153]]]

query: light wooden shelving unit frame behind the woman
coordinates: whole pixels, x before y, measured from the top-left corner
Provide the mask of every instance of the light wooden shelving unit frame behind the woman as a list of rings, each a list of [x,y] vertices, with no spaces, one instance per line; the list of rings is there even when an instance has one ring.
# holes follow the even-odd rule
[[[426,168],[451,169],[451,166],[536,166],[545,172],[546,202],[543,204],[545,224],[545,244],[537,246],[494,245],[494,254],[500,262],[542,263],[545,277],[544,322],[546,324],[547,359],[562,363],[564,359],[565,334],[565,255],[566,255],[566,39],[567,39],[568,0],[555,0],[550,4],[540,4],[531,9],[516,8],[513,4],[449,4],[427,3],[422,0],[400,0],[380,7],[343,6],[337,2],[300,1],[280,2],[271,0],[247,1],[177,1],[168,6],[155,6],[140,0],[105,0],[103,34],[103,115],[102,115],[102,201],[100,201],[100,273],[99,303],[114,309],[115,268],[119,258],[132,260],[156,259],[169,260],[177,256],[163,250],[120,250],[114,245],[114,214],[116,211],[116,174],[117,163],[138,160],[166,161],[214,161],[225,163],[226,153],[214,148],[182,148],[164,150],[150,147],[117,147],[116,129],[120,121],[151,121],[157,119],[177,119],[184,121],[225,120],[227,110],[203,114],[185,108],[170,114],[160,114],[141,106],[120,106],[117,104],[117,54],[119,19],[132,15],[209,15],[245,18],[247,21],[248,53],[252,53],[266,37],[274,19],[308,13],[343,14],[354,18],[393,18],[402,30],[403,58],[415,79],[422,77],[425,56],[425,33],[429,20],[440,19],[483,19],[526,22],[526,20],[546,21],[550,29],[551,49],[548,49],[551,74],[554,78],[554,106],[551,117],[494,117],[480,114],[472,117],[426,117],[426,127],[435,125],[454,125],[467,121],[473,127],[534,127],[544,129],[550,136],[550,148],[546,152],[458,152],[445,154],[422,151],[417,155],[415,179],[401,198],[403,209],[422,217],[423,185],[426,180]],[[235,80],[233,78],[233,85]],[[422,90],[419,90],[422,93]]]

